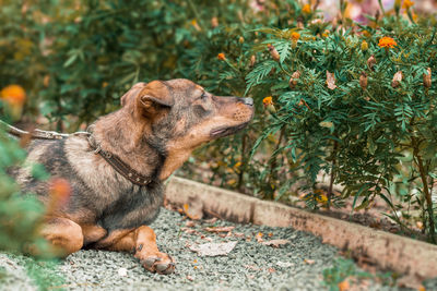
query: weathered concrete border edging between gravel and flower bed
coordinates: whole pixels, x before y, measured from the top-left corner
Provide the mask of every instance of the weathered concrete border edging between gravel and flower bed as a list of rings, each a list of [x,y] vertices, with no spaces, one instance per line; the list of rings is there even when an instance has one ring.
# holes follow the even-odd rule
[[[437,277],[437,245],[178,177],[169,180],[166,198],[179,206],[196,205],[234,222],[292,227],[311,232],[323,243],[350,250],[354,256],[364,256],[383,269],[420,280]]]

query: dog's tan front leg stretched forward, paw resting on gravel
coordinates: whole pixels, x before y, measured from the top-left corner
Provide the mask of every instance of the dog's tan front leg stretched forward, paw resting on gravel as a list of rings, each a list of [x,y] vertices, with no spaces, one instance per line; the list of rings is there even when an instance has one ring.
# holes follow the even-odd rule
[[[98,246],[103,245],[105,246]],[[175,264],[172,257],[161,253],[156,245],[156,234],[147,226],[141,226],[129,232],[120,231],[109,234],[104,241],[97,243],[98,248],[109,251],[133,252],[134,257],[139,258],[143,267],[152,272],[172,274]]]

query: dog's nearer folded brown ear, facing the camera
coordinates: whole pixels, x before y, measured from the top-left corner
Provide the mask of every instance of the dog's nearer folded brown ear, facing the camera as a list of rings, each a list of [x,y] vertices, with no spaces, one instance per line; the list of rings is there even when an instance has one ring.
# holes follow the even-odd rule
[[[143,116],[154,116],[158,113],[162,108],[170,108],[174,105],[175,100],[170,88],[162,81],[149,83],[138,95],[138,106]]]

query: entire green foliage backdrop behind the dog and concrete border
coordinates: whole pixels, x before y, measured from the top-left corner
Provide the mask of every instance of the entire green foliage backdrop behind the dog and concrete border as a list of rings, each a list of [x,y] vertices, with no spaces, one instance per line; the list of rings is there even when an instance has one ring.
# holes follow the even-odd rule
[[[436,21],[409,7],[355,24],[341,3],[328,23],[295,0],[0,0],[0,87],[21,84],[25,117],[60,131],[115,110],[138,81],[251,96],[248,129],[180,173],[267,199],[305,193],[312,208],[378,196],[405,230],[418,211],[435,241]]]

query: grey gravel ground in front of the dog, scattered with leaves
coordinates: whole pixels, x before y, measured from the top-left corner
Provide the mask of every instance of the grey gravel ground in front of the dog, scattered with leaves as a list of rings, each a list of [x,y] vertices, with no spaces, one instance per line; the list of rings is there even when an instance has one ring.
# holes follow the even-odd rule
[[[235,229],[225,237],[226,232],[204,230],[211,226]],[[80,251],[58,265],[35,264],[29,257],[0,254],[0,290],[36,290],[28,274],[51,290],[328,290],[322,271],[339,257],[335,247],[290,228],[220,220],[193,223],[165,208],[151,227],[156,232],[160,250],[176,260],[173,275],[150,274],[127,253]],[[263,241],[281,239],[290,243],[280,247],[262,244],[257,240],[260,232]],[[189,248],[233,241],[237,244],[225,256],[199,256]],[[394,289],[367,281],[364,290]]]

